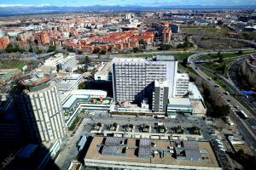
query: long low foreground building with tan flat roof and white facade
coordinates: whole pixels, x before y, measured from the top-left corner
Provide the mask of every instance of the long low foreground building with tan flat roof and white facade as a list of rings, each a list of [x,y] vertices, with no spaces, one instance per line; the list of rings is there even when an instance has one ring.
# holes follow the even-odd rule
[[[96,136],[88,148],[89,168],[221,169],[209,142]]]

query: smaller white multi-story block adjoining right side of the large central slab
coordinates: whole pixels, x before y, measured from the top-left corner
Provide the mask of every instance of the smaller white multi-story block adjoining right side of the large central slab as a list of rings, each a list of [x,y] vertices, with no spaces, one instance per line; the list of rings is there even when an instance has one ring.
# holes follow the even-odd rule
[[[177,73],[176,92],[177,97],[182,97],[189,92],[189,75],[186,73]]]

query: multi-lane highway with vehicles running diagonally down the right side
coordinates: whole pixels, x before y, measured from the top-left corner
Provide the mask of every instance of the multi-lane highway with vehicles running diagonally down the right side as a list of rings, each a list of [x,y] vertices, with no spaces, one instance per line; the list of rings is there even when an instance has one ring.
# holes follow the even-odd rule
[[[209,81],[207,77],[207,75],[201,71],[199,68],[197,68],[197,66],[193,63],[193,59],[197,59],[199,56],[201,56],[201,54],[194,54],[189,56],[188,62],[190,64],[190,67],[205,81],[207,81],[212,88],[216,85],[218,85],[216,82],[214,81]],[[239,108],[243,111],[246,112],[247,115],[250,116],[250,118],[254,118],[252,116],[252,114],[247,111],[247,109],[241,105],[236,99],[234,99],[232,96],[230,95],[226,95],[224,94],[225,90],[223,88],[216,88],[216,91],[218,92],[218,95],[221,95],[225,101],[227,102],[227,100],[230,100],[230,103],[227,102],[228,105],[230,105],[231,107],[234,108],[234,106],[238,105]],[[230,113],[230,118],[236,122],[236,127],[239,129],[241,136],[245,139],[246,143],[248,144],[248,146],[253,150],[253,154],[256,155],[256,135],[255,132],[252,130],[252,128],[250,126],[248,126],[247,122],[245,122],[244,120],[241,120],[241,118],[239,116],[236,115],[236,113],[234,111],[231,111]]]

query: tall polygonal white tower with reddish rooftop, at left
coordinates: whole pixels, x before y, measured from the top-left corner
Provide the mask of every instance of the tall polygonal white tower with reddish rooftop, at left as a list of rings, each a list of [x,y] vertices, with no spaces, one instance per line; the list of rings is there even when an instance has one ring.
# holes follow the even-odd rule
[[[34,142],[51,142],[65,136],[60,94],[49,75],[28,75],[20,80],[20,85],[24,89],[17,101],[26,135]]]

